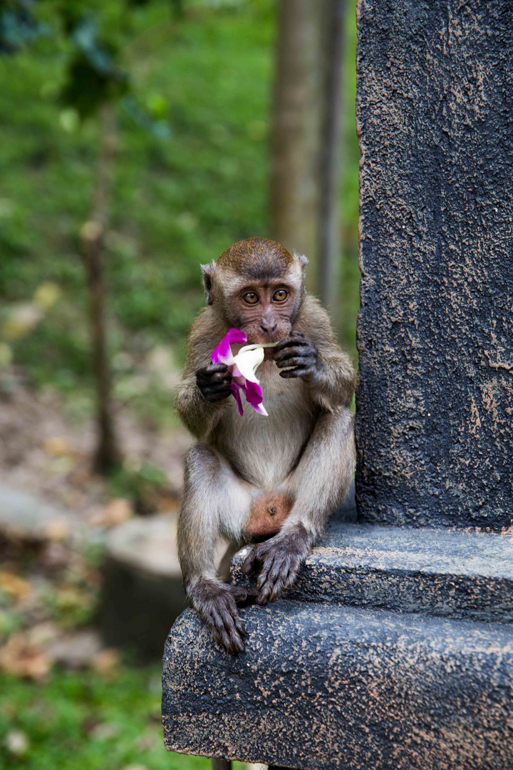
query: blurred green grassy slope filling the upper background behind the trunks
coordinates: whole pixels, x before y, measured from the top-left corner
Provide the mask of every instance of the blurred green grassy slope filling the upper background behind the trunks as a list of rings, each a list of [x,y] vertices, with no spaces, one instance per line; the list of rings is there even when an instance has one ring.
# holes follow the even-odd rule
[[[112,23],[117,5],[109,0],[100,6],[105,23]],[[168,139],[155,139],[118,111],[105,255],[110,343],[136,359],[164,342],[181,360],[203,303],[199,263],[269,229],[274,5],[248,0],[185,7],[185,18],[176,21],[167,0],[143,5],[120,32],[122,63],[139,102],[158,109],[171,127]],[[48,8],[51,13],[51,3]],[[31,50],[0,59],[0,323],[2,313],[31,300],[42,283],[58,284],[60,299],[42,322],[8,342],[36,386],[75,397],[91,392],[78,233],[92,210],[98,124],[88,119],[79,125],[58,103],[67,56],[63,42],[55,49],[55,41],[40,39]],[[351,6],[341,337],[353,354],[359,277],[354,62]]]

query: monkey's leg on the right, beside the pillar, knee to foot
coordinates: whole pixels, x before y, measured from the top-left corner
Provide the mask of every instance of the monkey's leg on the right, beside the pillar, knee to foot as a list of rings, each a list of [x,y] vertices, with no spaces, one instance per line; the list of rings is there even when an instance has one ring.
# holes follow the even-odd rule
[[[319,417],[298,466],[283,486],[295,503],[280,532],[256,545],[242,565],[246,574],[261,564],[258,604],[275,601],[290,588],[301,564],[344,499],[355,467],[353,416],[345,407]]]

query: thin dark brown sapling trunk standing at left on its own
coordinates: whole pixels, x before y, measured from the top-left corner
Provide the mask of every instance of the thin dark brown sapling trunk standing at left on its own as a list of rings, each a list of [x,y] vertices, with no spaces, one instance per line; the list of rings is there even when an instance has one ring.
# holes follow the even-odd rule
[[[112,376],[108,363],[105,320],[105,281],[103,276],[103,239],[107,206],[112,189],[115,158],[115,114],[111,104],[101,113],[102,152],[98,163],[95,206],[92,218],[82,227],[82,249],[88,279],[89,312],[92,336],[93,372],[96,383],[98,440],[93,460],[95,470],[108,474],[120,460],[112,413]]]

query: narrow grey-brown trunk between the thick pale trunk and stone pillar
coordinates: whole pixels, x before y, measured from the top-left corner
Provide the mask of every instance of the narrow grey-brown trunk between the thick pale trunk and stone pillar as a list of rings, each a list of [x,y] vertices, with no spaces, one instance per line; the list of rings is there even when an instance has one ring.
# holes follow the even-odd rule
[[[320,206],[318,226],[318,296],[336,314],[339,294],[340,179],[342,154],[342,59],[345,0],[323,0],[325,82],[320,152]]]

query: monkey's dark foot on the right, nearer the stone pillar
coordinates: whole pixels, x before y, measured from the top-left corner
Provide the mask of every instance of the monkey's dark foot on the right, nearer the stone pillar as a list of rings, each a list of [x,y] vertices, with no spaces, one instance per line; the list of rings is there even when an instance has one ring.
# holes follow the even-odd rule
[[[280,532],[252,548],[242,564],[242,572],[248,574],[261,564],[258,575],[257,604],[276,601],[283,591],[291,588],[310,553],[311,539],[302,524],[287,532]]]

